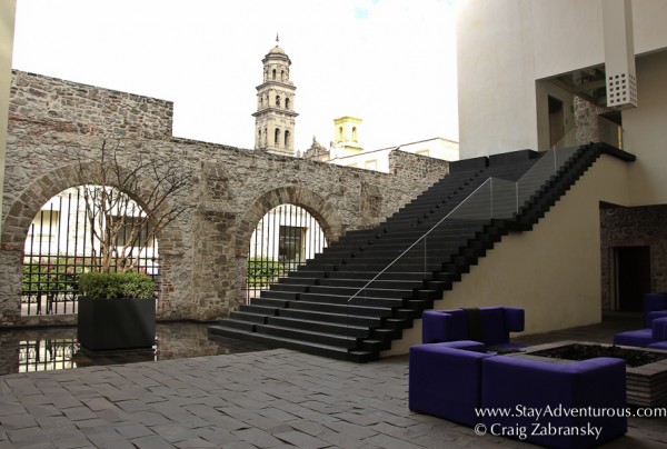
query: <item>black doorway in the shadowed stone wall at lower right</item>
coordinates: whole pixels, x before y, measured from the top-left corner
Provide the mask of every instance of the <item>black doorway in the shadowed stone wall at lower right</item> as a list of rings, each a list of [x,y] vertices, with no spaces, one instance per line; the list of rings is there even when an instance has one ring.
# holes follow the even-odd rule
[[[649,247],[627,247],[616,249],[618,268],[618,309],[640,311],[644,293],[650,291]]]

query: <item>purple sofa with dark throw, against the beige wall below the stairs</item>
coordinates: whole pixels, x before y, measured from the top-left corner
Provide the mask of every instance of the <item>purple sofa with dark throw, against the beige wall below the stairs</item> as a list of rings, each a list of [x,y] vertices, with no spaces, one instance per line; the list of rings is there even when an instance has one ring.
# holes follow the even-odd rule
[[[472,340],[494,351],[526,346],[509,341],[509,332],[520,332],[525,327],[524,309],[514,307],[429,310],[421,315],[421,326],[422,343]]]

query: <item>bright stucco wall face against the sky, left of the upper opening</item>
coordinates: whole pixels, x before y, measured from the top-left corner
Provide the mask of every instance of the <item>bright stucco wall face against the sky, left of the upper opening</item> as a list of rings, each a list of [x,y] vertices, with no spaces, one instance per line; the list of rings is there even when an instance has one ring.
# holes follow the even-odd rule
[[[537,146],[528,0],[475,0],[457,19],[461,159]]]

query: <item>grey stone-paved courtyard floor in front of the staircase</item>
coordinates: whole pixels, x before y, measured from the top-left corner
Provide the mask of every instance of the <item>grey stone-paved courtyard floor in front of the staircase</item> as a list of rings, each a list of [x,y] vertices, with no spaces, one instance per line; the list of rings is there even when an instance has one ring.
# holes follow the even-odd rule
[[[517,340],[610,342],[638,323],[618,315]],[[150,361],[89,358],[73,369],[0,376],[0,448],[530,447],[411,412],[407,356],[356,365],[241,342],[213,349],[217,342],[199,337],[188,351],[178,337],[173,357],[159,340],[163,357],[151,352]],[[211,352],[198,355],[198,347]],[[667,447],[667,418],[628,423],[625,437],[603,447]]]

